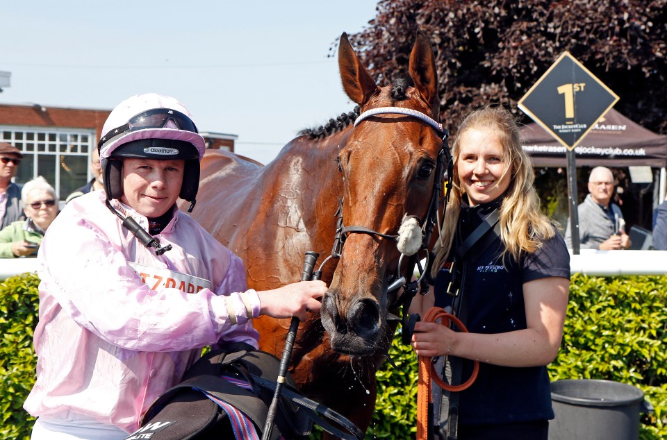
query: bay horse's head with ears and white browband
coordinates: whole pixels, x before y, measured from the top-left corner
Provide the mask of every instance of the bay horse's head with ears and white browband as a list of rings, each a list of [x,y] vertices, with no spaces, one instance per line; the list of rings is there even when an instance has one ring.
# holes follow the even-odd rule
[[[413,85],[403,80],[378,87],[345,34],[338,64],[345,92],[359,104],[361,116],[338,155],[345,242],[322,300],[322,324],[331,348],[368,355],[390,344],[384,330],[399,289],[388,291],[389,285],[400,276],[411,277],[405,264],[399,268],[396,240],[382,235],[397,235],[405,215],[427,221],[440,182],[440,99],[435,60],[424,35],[418,35],[410,56]]]

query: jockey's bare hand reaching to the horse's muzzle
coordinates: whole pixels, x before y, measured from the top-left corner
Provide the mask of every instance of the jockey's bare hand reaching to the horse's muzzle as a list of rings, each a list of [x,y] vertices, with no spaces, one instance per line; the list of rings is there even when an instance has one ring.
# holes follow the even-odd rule
[[[306,321],[308,312],[319,312],[320,298],[327,292],[324,281],[299,281],[278,289],[258,291],[261,302],[261,314],[273,318],[291,318],[296,316]]]

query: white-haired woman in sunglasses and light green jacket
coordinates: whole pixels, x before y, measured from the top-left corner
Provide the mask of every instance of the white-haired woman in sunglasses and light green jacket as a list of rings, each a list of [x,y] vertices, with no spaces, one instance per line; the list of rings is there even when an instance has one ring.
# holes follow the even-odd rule
[[[21,198],[26,220],[0,230],[0,258],[35,257],[44,232],[58,215],[56,192],[42,176],[23,185]]]

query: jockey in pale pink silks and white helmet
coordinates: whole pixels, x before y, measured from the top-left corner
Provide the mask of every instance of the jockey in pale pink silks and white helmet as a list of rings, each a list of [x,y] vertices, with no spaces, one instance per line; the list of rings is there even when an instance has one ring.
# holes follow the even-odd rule
[[[176,99],[126,99],[98,147],[105,190],[67,204],[38,254],[33,440],[124,439],[202,347],[257,347],[253,318],[304,320],[326,291],[248,290],[241,260],[176,207],[194,207],[206,148]]]

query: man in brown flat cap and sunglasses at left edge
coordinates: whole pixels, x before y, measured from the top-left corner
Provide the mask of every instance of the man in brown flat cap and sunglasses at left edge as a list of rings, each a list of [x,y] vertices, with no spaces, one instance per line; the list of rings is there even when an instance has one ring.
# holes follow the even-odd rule
[[[15,146],[0,142],[0,229],[25,218],[21,185],[12,182],[22,158]]]

